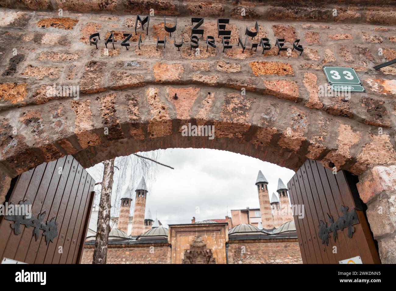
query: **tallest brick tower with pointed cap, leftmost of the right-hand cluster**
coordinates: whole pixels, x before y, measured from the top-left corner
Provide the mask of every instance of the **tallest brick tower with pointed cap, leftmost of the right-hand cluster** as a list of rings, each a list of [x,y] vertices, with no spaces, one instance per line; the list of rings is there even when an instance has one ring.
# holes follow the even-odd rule
[[[268,181],[261,171],[257,175],[256,185],[259,192],[261,223],[263,228],[272,229],[274,228],[274,219],[272,218],[270,199],[268,197]]]

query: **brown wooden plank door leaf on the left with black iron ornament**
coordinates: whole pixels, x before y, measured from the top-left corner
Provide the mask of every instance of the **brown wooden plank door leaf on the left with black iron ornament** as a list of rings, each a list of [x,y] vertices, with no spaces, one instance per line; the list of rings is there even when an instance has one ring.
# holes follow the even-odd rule
[[[92,177],[70,155],[19,175],[6,201],[29,201],[32,218],[25,217],[22,222],[21,217],[0,218],[0,258],[28,264],[79,263],[94,185]]]

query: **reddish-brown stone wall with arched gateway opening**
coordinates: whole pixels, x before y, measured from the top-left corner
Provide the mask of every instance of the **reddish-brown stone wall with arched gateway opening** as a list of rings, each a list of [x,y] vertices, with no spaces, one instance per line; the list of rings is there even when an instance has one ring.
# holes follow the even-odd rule
[[[178,18],[177,35],[187,36],[180,52],[171,42],[156,48],[156,36],[167,35],[162,16],[152,17],[141,49],[135,39],[126,51],[119,43],[122,33],[134,26],[130,15],[70,12],[67,19],[54,20],[52,14],[5,11],[9,17],[3,26],[11,34],[3,29],[0,202],[12,177],[66,154],[85,167],[137,151],[173,147],[229,150],[294,170],[311,158],[360,175],[360,196],[369,204],[368,219],[380,252],[384,244],[381,257],[394,262],[396,255],[386,255],[385,249],[394,246],[395,226],[377,217],[375,207],[384,204],[389,209],[395,190],[395,72],[389,68],[377,72],[371,64],[395,53],[389,32],[372,23],[395,23],[381,23],[378,11],[371,12],[374,16],[366,22],[345,15],[331,22],[331,30],[324,23],[291,18],[284,24],[285,19],[258,18],[257,40],[267,36],[274,44],[276,37],[283,37],[291,46],[301,38],[305,51],[299,56],[284,51],[277,55],[274,48],[266,55],[260,49],[242,52],[236,46],[238,36],[243,38],[254,22],[232,13],[223,15],[234,16],[230,22],[234,47],[222,53],[216,38],[218,47],[206,52],[201,41],[200,55],[195,55],[189,48],[190,15],[185,11]],[[204,37],[216,35],[213,13],[201,13],[206,17]],[[317,20],[325,19],[318,15]],[[348,33],[345,19],[355,24]],[[118,42],[116,49],[106,51],[103,38],[109,25]],[[102,36],[97,50],[88,44],[89,34],[96,31]],[[378,43],[384,57],[376,54]],[[14,47],[16,56],[10,49]],[[348,102],[319,97],[318,86],[326,84],[320,70],[328,63],[354,66],[366,93]],[[48,97],[47,86],[54,83],[80,86],[79,99]],[[182,136],[181,127],[188,123],[213,125],[214,139]]]

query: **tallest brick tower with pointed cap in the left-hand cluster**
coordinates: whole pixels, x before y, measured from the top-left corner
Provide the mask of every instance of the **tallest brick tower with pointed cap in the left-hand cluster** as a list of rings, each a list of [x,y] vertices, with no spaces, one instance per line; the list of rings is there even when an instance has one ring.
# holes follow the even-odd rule
[[[133,211],[131,236],[140,236],[143,234],[145,226],[146,196],[148,192],[144,177],[140,180],[135,191],[135,210]]]

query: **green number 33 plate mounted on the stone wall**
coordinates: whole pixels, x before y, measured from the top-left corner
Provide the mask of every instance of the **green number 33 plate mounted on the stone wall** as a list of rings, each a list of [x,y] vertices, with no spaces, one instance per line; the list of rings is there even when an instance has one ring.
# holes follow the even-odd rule
[[[365,92],[354,68],[323,67],[327,82],[334,91]]]

